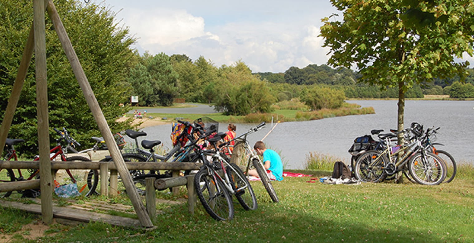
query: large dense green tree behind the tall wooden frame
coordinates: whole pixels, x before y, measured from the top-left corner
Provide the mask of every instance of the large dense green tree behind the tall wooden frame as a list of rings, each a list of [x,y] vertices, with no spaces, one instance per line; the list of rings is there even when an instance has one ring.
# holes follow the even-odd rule
[[[112,131],[124,129],[115,119],[127,110],[118,104],[128,99],[124,77],[128,63],[134,58],[130,45],[135,39],[128,35],[127,28],[118,27],[114,13],[104,5],[56,0],[55,6],[109,126]],[[1,113],[7,106],[32,26],[32,9],[31,1],[0,3],[0,94],[4,97],[0,101]],[[47,14],[46,54],[50,127],[64,126],[81,144],[91,145],[91,136],[100,132]],[[29,155],[37,153],[34,74],[33,58],[9,131],[9,137],[26,140],[17,148]]]

